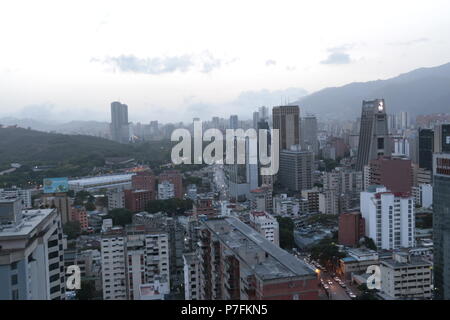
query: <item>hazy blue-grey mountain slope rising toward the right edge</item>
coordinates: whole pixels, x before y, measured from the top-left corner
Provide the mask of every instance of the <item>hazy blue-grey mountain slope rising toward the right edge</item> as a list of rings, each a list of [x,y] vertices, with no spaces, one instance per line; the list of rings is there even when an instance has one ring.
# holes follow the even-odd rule
[[[384,98],[388,113],[407,111],[411,116],[450,113],[450,63],[420,68],[397,77],[354,82],[326,88],[291,103],[319,118],[356,118],[363,100]],[[302,111],[302,112],[303,112]]]

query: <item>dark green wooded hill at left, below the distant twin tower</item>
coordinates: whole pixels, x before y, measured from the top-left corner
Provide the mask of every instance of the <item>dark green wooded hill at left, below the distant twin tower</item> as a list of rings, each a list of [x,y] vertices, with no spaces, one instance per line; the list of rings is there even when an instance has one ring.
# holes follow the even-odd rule
[[[0,176],[0,187],[42,183],[44,177],[81,177],[101,168],[108,157],[131,157],[152,167],[170,162],[170,141],[120,144],[84,135],[47,133],[23,128],[0,128],[0,171],[19,163],[21,168]],[[52,168],[35,172],[35,166]]]

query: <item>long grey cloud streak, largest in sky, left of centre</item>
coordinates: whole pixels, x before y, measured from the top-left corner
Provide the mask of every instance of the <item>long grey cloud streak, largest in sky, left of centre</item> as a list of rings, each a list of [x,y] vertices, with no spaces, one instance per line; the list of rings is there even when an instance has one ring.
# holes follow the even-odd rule
[[[226,62],[232,63],[234,60]],[[120,55],[106,59],[92,58],[91,62],[103,62],[117,68],[121,72],[159,75],[174,72],[188,72],[198,70],[210,73],[222,66],[222,61],[215,58],[210,52],[200,55],[180,55],[164,57],[139,58],[134,55]]]

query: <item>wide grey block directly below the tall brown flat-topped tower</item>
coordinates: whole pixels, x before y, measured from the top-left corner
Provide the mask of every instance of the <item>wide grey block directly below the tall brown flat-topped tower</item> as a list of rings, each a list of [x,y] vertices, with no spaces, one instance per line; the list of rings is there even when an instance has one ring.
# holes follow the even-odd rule
[[[314,153],[312,151],[301,151],[295,147],[292,149],[280,152],[278,181],[283,187],[292,191],[301,192],[311,189],[314,185]]]

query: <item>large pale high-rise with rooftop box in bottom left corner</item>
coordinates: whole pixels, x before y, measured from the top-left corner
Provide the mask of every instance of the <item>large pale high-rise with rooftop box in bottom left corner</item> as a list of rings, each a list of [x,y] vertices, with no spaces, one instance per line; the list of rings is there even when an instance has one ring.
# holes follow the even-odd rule
[[[56,209],[0,200],[0,300],[64,300],[64,246]]]

